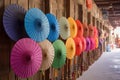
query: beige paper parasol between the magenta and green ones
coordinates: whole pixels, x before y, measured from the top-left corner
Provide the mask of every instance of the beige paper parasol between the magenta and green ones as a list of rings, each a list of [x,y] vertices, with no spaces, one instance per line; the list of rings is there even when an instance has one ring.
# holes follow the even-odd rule
[[[42,48],[42,64],[40,70],[47,70],[53,62],[54,59],[54,47],[48,40],[42,41],[39,43]]]

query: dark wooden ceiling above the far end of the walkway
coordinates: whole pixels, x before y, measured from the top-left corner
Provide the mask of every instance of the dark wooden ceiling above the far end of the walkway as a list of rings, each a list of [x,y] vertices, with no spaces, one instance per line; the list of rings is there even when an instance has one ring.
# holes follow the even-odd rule
[[[120,0],[94,1],[114,28],[120,26]]]

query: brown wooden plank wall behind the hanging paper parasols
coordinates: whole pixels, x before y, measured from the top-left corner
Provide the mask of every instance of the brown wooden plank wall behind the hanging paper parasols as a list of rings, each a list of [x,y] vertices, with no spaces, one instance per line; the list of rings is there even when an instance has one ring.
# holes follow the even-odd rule
[[[31,78],[18,78],[11,70],[9,60],[11,48],[15,42],[6,35],[2,22],[4,9],[9,4],[19,4],[26,10],[36,7],[44,13],[53,13],[58,20],[61,16],[67,18],[71,16],[81,22],[95,25],[95,17],[91,12],[88,13],[85,0],[0,0],[0,80],[75,80],[101,55],[99,49],[84,52],[71,61],[67,60],[60,70],[55,71],[50,68],[45,72],[39,71]]]

